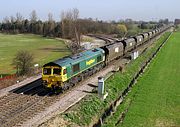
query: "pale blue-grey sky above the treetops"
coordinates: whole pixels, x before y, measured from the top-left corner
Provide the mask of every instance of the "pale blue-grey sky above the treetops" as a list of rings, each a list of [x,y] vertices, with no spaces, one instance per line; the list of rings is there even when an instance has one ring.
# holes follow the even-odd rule
[[[29,18],[36,10],[39,19],[47,19],[49,12],[60,20],[63,10],[79,9],[81,18],[101,20],[159,20],[180,18],[180,0],[0,0],[0,21],[17,12]]]

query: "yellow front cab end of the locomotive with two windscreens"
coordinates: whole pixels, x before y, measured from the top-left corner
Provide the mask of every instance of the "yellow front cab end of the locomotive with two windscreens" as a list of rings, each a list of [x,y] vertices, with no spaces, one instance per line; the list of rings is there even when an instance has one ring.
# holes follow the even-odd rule
[[[42,83],[45,88],[62,87],[66,78],[66,68],[64,67],[49,63],[42,68]]]

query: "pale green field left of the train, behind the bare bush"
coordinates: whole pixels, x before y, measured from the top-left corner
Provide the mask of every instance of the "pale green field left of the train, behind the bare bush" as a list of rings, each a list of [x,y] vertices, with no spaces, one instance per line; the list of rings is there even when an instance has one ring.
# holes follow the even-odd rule
[[[43,65],[70,54],[64,42],[32,34],[7,35],[0,33],[0,74],[14,73],[12,59],[18,50],[29,50],[35,62]]]

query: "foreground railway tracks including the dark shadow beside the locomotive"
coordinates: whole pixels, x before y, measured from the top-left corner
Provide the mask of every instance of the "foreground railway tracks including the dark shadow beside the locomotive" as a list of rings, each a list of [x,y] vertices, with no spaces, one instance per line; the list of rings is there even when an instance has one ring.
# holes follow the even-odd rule
[[[26,89],[27,88],[27,89]],[[0,127],[22,126],[25,121],[59,101],[68,94],[54,95],[37,85],[22,87],[0,98]]]

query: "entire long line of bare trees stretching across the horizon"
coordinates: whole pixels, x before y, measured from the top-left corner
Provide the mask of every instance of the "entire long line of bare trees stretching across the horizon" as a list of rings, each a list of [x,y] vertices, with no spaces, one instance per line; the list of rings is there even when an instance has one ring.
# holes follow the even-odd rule
[[[168,20],[161,20],[168,22]],[[55,21],[52,13],[48,14],[48,19],[42,21],[38,19],[37,13],[33,10],[29,19],[17,13],[16,16],[5,17],[0,23],[0,31],[4,33],[33,33],[45,37],[61,37],[75,39],[77,44],[80,43],[81,34],[118,34],[118,37],[133,36],[137,32],[131,32],[134,24],[138,24],[139,29],[153,29],[158,22],[136,22],[132,19],[116,21],[93,20],[92,18],[80,19],[79,10],[71,9],[61,13],[61,20]]]

